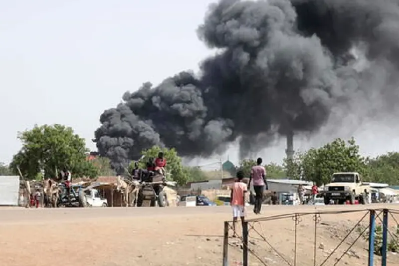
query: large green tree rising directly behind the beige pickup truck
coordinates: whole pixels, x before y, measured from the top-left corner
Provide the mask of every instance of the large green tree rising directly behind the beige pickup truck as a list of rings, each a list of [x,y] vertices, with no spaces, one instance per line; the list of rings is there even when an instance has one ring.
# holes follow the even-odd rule
[[[359,146],[353,138],[340,138],[321,148],[310,149],[299,156],[303,177],[317,185],[330,182],[334,172],[367,173],[365,158],[359,154]]]

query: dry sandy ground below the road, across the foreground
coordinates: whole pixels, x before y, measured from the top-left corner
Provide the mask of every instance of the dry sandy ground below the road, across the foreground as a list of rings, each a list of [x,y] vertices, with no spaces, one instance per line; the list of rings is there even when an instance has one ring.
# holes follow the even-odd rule
[[[323,206],[320,211],[390,208],[397,205]],[[249,211],[251,209],[249,208]],[[264,206],[260,216],[314,212],[311,206]],[[317,226],[317,264],[341,242],[365,211],[321,215]],[[399,215],[395,218],[399,220]],[[223,221],[231,219],[229,207],[0,209],[1,266],[220,266]],[[368,217],[364,225],[367,225]],[[292,218],[251,224],[249,265],[294,265],[295,226]],[[390,217],[390,226],[394,220]],[[240,228],[239,228],[240,229]],[[303,216],[297,226],[296,265],[312,265],[314,222]],[[324,264],[334,265],[350,248],[359,229]],[[262,235],[289,264],[279,258]],[[229,265],[241,265],[239,240],[230,239]],[[337,265],[367,265],[364,238],[349,249]],[[259,259],[264,262],[262,264]],[[399,266],[399,256],[389,254],[388,265]],[[376,257],[376,264],[379,258]]]

